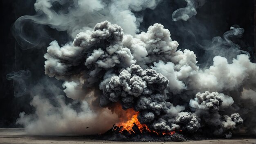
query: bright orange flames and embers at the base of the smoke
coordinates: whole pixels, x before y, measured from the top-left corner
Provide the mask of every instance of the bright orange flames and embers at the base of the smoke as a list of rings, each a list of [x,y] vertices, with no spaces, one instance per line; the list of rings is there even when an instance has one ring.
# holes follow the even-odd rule
[[[175,133],[175,131],[162,132],[162,133],[152,131],[148,128],[148,126],[146,124],[141,124],[139,122],[139,120],[137,118],[138,115],[139,115],[139,112],[136,112],[133,109],[127,109],[126,110],[126,116],[129,119],[125,122],[120,122],[119,124],[117,124],[117,128],[121,128],[119,130],[119,132],[122,133],[124,130],[126,130],[130,134],[135,133],[135,131],[132,129],[132,127],[134,127],[134,125],[136,124],[140,133],[142,133],[143,131],[148,131],[149,133],[156,133],[157,135],[161,135],[161,134],[162,135],[173,135]]]

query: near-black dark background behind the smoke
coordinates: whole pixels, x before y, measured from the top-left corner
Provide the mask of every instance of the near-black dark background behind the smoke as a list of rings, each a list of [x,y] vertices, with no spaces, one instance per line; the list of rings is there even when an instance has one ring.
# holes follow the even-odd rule
[[[29,94],[22,97],[13,96],[13,81],[8,81],[6,75],[19,70],[30,70],[31,77],[28,85],[36,83],[44,74],[43,55],[46,53],[49,42],[53,39],[61,43],[70,40],[65,32],[58,32],[48,26],[36,24],[28,25],[27,33],[33,34],[34,28],[41,27],[49,35],[42,37],[42,41],[36,48],[22,50],[12,35],[12,25],[15,20],[22,15],[34,15],[35,0],[2,0],[1,1],[1,52],[0,52],[0,128],[20,127],[16,125],[16,119],[21,111],[33,112],[29,105],[31,96]],[[254,0],[207,0],[196,16],[189,21],[173,22],[171,15],[178,8],[185,7],[182,0],[163,0],[155,10],[146,9],[137,12],[136,15],[144,16],[140,30],[146,31],[148,26],[154,23],[161,23],[171,32],[173,40],[178,41],[180,48],[195,51],[198,61],[204,61],[200,57],[204,50],[199,50],[195,44],[195,38],[211,39],[222,36],[229,30],[229,27],[238,24],[245,28],[245,33],[238,42],[242,50],[250,52],[252,61],[254,48]],[[195,37],[191,36],[192,32]]]

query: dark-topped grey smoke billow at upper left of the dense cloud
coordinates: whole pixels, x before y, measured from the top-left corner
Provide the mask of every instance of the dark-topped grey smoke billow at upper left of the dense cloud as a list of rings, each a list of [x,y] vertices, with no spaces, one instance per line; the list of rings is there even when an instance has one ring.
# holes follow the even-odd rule
[[[123,35],[124,33],[120,26],[111,25],[108,21],[105,21],[97,24],[92,32],[79,33],[73,44],[66,44],[63,48],[58,46],[57,41],[52,41],[51,46],[47,48],[47,54],[44,56],[47,59],[45,62],[45,74],[51,77],[68,75],[69,69],[78,66],[81,64],[81,60],[85,59],[85,53],[91,53],[84,64],[88,69],[94,67],[94,70],[89,74],[92,77],[95,77],[101,70],[115,67],[120,63],[125,66],[131,65],[135,63],[135,60],[130,50],[120,44]],[[104,40],[107,42],[106,45],[108,44],[108,47],[104,49],[98,48],[103,46]]]

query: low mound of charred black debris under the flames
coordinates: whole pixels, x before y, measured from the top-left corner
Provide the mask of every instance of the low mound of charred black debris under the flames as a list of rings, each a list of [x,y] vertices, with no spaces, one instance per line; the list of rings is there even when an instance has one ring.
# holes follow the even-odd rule
[[[172,131],[170,133],[159,133],[155,131],[147,131],[141,129],[134,123],[131,130],[124,129],[113,125],[112,129],[101,135],[93,135],[93,139],[97,140],[112,140],[112,141],[126,141],[126,142],[184,142],[189,140],[207,140],[198,133],[184,133],[182,131]]]

